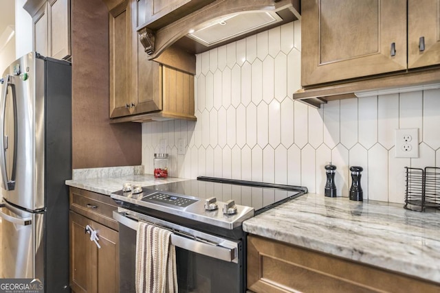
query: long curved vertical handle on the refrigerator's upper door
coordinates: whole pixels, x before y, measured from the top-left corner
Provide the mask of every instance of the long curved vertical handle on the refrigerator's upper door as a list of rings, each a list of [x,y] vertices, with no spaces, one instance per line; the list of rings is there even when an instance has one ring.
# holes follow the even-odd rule
[[[0,169],[3,182],[1,183],[5,190],[14,190],[15,188],[15,167],[17,164],[17,97],[15,86],[10,82],[10,75],[6,75],[3,80],[3,91],[0,97]],[[12,89],[12,103],[14,110],[14,159],[12,161],[11,180],[8,180],[8,170],[6,169],[5,151],[8,148],[8,137],[5,137],[5,112],[6,98],[8,97],[8,86]]]

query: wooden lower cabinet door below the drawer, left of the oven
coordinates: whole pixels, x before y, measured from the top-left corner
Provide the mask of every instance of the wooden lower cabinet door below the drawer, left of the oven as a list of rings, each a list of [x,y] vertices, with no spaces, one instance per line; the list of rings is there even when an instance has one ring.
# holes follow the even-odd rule
[[[89,225],[97,231],[101,248],[85,233]],[[70,285],[74,292],[118,292],[118,232],[70,211]]]

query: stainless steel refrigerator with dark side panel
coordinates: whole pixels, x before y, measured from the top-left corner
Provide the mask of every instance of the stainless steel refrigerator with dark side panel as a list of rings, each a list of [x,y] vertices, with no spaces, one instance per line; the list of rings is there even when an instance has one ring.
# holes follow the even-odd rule
[[[72,66],[31,52],[1,78],[0,278],[69,292]]]

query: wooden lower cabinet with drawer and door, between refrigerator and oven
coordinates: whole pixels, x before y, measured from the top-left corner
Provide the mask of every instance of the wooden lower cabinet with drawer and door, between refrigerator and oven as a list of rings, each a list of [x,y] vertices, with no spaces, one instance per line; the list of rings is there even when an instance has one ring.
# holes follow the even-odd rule
[[[70,189],[70,288],[72,292],[119,292],[119,233],[109,227],[111,220],[106,215],[112,212],[111,208],[117,207],[115,204],[114,206],[109,204],[110,202],[104,202],[106,200],[111,200],[111,198],[74,187]],[[87,225],[96,231],[100,248],[90,240],[90,234],[86,232]]]

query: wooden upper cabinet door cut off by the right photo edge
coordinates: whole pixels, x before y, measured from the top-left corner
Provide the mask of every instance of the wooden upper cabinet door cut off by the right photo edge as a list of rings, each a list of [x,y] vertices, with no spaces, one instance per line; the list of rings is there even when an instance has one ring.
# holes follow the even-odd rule
[[[440,64],[440,0],[408,0],[408,68],[437,64]]]

